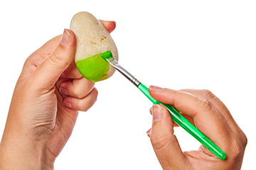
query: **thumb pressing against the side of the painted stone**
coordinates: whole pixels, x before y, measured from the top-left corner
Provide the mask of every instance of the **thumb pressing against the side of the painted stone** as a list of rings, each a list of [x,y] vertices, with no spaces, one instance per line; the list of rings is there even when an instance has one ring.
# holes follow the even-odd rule
[[[41,88],[53,88],[60,75],[74,60],[75,45],[75,34],[72,30],[65,29],[58,46],[36,69],[34,78]]]

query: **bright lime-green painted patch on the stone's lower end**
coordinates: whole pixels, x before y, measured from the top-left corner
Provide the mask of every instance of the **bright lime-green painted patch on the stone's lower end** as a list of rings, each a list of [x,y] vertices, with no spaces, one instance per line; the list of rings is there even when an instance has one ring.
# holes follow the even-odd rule
[[[83,77],[90,81],[101,81],[108,78],[110,64],[99,55],[75,63]]]

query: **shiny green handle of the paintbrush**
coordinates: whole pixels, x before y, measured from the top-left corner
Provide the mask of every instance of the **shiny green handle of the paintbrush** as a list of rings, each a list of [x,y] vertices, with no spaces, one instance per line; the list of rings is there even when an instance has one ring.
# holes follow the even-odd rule
[[[181,126],[184,130],[186,130],[188,133],[190,133],[193,137],[196,138],[203,146],[208,148],[210,152],[213,152],[218,158],[220,159],[225,159],[226,154],[219,148],[217,147],[211,140],[206,137],[206,135],[203,135],[203,133],[198,130],[195,126],[193,126],[186,118],[183,117],[176,109],[169,105],[169,104],[164,104],[159,101],[156,101],[154,98],[152,98],[149,94],[149,89],[144,86],[143,84],[139,84],[137,86],[142,93],[149,98],[149,100],[154,103],[154,104],[161,104],[162,106],[165,106],[170,115],[172,120],[174,120],[175,123],[177,123],[179,126]]]

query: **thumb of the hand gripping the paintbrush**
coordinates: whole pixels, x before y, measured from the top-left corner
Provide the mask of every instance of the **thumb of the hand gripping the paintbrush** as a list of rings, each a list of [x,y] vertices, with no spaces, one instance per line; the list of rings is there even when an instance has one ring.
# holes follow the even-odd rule
[[[163,169],[183,169],[188,167],[188,159],[181,151],[174,135],[174,122],[164,106],[152,107],[153,125],[150,140],[156,157]]]

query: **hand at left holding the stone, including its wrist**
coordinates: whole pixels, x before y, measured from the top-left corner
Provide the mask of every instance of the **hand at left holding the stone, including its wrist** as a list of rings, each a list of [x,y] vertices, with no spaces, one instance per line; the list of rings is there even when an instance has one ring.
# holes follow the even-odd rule
[[[101,22],[114,30],[114,21]],[[0,169],[53,169],[78,111],[97,100],[95,83],[75,67],[75,46],[75,34],[65,29],[27,58],[1,139]]]

